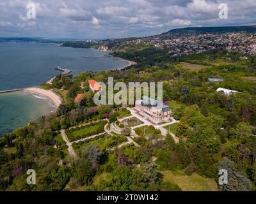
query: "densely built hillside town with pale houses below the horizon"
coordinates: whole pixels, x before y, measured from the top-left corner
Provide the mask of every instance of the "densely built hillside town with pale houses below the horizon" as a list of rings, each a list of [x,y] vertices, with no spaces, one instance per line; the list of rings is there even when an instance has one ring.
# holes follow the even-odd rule
[[[72,43],[69,42],[69,44]],[[169,31],[156,36],[141,38],[124,38],[118,40],[90,40],[74,41],[74,44],[93,45],[99,50],[113,51],[118,46],[152,46],[159,49],[168,49],[171,57],[180,55],[199,54],[213,50],[226,50],[227,52],[239,52],[244,55],[256,54],[256,34],[248,31],[233,31],[221,33],[216,31],[199,32],[194,29],[186,29],[186,32],[179,30]]]

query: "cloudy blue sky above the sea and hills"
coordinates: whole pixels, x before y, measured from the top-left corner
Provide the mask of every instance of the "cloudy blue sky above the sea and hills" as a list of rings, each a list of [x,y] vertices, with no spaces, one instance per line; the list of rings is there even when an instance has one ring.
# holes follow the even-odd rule
[[[29,3],[35,19],[27,18]],[[228,19],[219,18],[221,3]],[[256,0],[0,0],[0,37],[122,38],[255,21]]]

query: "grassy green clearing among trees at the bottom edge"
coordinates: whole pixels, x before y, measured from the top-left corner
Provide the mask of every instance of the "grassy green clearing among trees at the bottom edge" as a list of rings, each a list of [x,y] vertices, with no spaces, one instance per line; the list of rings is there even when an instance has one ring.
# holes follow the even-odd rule
[[[197,173],[191,176],[184,171],[161,171],[164,182],[177,184],[182,191],[218,191],[218,186],[214,179],[206,179]]]

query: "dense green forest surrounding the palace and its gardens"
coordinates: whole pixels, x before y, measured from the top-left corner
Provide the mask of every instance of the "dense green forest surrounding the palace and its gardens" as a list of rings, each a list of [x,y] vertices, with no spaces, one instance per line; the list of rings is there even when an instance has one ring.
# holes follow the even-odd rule
[[[179,185],[163,178],[163,172],[182,170],[218,183],[218,170],[223,168],[230,173],[228,184],[218,190],[256,190],[256,84],[248,80],[256,74],[254,56],[241,60],[239,54],[216,51],[172,59],[166,50],[157,48],[114,55],[138,64],[124,71],[59,75],[52,85],[44,85],[61,94],[63,104],[56,113],[1,138],[2,191],[181,191]],[[195,71],[179,62],[207,67]],[[68,156],[67,145],[59,140],[61,129],[92,123],[89,126],[100,133],[106,122],[97,121],[113,122],[125,112],[121,106],[93,104],[87,81],[108,82],[108,77],[125,83],[163,82],[163,99],[180,120],[172,130],[179,143],[170,134],[154,142],[141,136],[136,138],[140,147],[113,150],[93,141],[85,148],[83,143],[76,145],[76,158]],[[223,82],[207,82],[211,77],[221,77]],[[218,87],[241,93],[227,96],[216,92]],[[84,97],[74,103],[79,93]],[[106,135],[108,147],[125,141],[125,136],[116,135],[110,141]],[[36,170],[36,185],[26,184],[29,168]]]

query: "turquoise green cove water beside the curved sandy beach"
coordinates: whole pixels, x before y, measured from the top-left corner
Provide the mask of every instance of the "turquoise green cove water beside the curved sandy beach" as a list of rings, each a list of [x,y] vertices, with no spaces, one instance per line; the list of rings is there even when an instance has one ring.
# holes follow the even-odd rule
[[[45,96],[27,91],[0,94],[0,136],[54,111]]]

